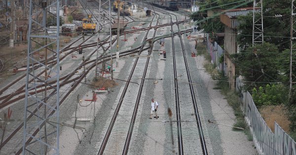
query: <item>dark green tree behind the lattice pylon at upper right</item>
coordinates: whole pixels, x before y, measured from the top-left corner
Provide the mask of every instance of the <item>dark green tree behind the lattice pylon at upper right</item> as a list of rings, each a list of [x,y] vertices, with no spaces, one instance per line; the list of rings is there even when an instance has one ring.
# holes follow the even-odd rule
[[[291,0],[267,0],[262,5],[264,41],[277,45],[280,50],[289,48]],[[238,45],[240,49],[246,49],[252,46],[253,13],[240,16],[238,20],[241,22],[238,27]]]

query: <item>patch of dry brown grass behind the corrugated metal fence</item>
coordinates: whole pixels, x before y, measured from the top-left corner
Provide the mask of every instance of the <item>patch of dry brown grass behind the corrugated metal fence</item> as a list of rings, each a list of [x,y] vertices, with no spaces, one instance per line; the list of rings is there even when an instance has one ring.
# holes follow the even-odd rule
[[[272,132],[274,132],[274,121],[286,132],[289,132],[290,121],[288,120],[284,106],[263,106],[259,109],[259,112]]]

